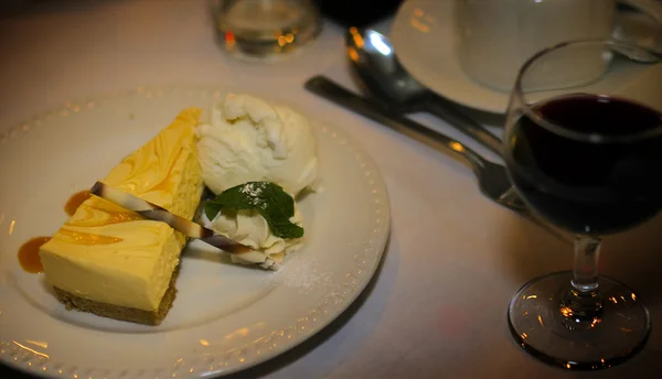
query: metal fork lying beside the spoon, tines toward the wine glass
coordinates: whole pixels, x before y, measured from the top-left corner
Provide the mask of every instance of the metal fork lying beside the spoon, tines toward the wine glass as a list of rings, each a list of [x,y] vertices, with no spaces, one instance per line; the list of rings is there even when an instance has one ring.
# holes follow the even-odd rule
[[[440,148],[452,154],[470,166],[478,180],[478,187],[485,197],[508,209],[514,210],[562,240],[572,243],[567,236],[553,226],[540,220],[530,212],[517,193],[514,192],[503,165],[490,162],[463,143],[427,128],[378,102],[356,95],[322,75],[311,77],[303,86],[306,89],[331,102],[380,122],[433,149]]]

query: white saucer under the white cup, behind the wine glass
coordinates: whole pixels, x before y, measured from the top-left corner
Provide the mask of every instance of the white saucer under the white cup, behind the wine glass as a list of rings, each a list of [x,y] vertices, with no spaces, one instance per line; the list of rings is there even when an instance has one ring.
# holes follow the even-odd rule
[[[504,113],[510,99],[473,82],[457,58],[455,0],[407,0],[397,11],[391,40],[397,58],[423,85],[463,106]]]

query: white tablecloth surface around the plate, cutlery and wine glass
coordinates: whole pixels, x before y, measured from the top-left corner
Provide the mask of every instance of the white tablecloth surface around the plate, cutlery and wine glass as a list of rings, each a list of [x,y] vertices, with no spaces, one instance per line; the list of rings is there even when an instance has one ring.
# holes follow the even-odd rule
[[[506,307],[525,281],[569,269],[572,249],[481,196],[471,172],[450,156],[307,93],[302,84],[314,74],[355,88],[342,29],[325,23],[316,43],[287,62],[245,64],[215,44],[205,1],[52,3],[0,20],[0,129],[67,100],[142,85],[259,86],[345,129],[381,169],[393,221],[374,280],[318,335],[234,377],[662,377],[659,218],[608,238],[600,263],[649,305],[654,327],[645,348],[609,370],[546,366],[512,340]],[[23,376],[0,367],[0,377]]]

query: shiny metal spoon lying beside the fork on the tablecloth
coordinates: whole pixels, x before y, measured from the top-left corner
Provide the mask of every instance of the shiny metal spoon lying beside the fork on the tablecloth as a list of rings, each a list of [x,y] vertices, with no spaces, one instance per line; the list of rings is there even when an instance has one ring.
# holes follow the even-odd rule
[[[372,97],[401,113],[435,115],[501,156],[501,140],[416,82],[397,62],[385,35],[371,29],[350,28],[345,45],[354,72]]]

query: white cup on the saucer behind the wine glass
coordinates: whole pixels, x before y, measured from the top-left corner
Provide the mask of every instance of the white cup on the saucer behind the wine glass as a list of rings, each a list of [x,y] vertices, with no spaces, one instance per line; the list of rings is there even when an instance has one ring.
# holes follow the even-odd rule
[[[628,3],[662,24],[652,0],[457,0],[458,55],[481,85],[509,91],[521,65],[552,45],[609,39],[617,30],[617,3]],[[662,28],[662,26],[661,26]],[[587,79],[601,75],[605,59],[581,61]],[[568,67],[572,69],[573,67]],[[558,71],[557,71],[558,72]]]

